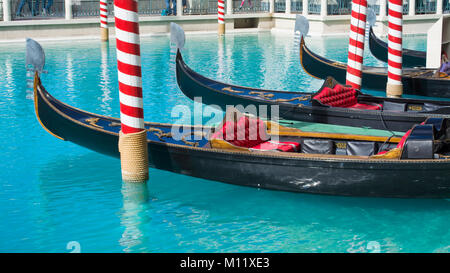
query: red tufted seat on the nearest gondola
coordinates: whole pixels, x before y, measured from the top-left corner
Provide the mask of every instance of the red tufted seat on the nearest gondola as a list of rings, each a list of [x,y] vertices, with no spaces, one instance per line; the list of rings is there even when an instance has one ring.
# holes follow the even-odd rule
[[[211,136],[211,147],[226,148],[223,141],[230,144],[231,146],[228,147],[231,149],[238,147],[259,151],[297,152],[300,148],[297,142],[270,140],[264,121],[245,115],[238,121],[224,122],[222,127]]]

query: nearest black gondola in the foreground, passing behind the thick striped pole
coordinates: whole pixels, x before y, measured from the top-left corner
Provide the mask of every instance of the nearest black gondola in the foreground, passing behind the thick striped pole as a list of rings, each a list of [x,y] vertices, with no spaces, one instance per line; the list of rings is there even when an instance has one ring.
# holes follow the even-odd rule
[[[44,88],[38,71],[34,77],[34,103],[38,121],[51,135],[119,157],[119,119],[89,113],[55,99]],[[173,135],[174,129],[179,129],[177,125],[145,123],[150,166],[236,185],[292,192],[450,197],[447,119],[428,119],[399,139],[308,133],[238,116],[237,111],[231,111],[229,117],[226,120],[231,123],[223,122],[217,128],[187,126],[182,137]],[[251,126],[264,129],[258,131],[258,143],[247,140],[247,133],[243,142],[228,137],[230,128],[247,132]],[[278,140],[273,139],[276,131]],[[189,137],[193,135],[197,138]]]

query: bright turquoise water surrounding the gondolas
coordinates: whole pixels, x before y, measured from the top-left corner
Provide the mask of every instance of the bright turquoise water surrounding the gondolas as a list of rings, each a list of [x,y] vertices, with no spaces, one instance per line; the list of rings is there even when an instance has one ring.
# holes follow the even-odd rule
[[[346,37],[308,38],[346,61]],[[424,37],[405,39],[424,49]],[[99,42],[44,42],[46,88],[70,105],[118,116],[115,50]],[[184,57],[222,81],[314,91],[292,37],[187,37]],[[24,44],[0,46],[0,252],[450,252],[450,202],[315,196],[258,190],[150,169],[124,184],[120,162],[46,133],[26,84]],[[222,61],[216,58],[217,52]],[[178,90],[167,37],[142,39],[145,118],[173,122]],[[367,64],[382,65],[366,51]],[[70,245],[70,244],[69,244]],[[375,246],[375,248],[373,248]]]

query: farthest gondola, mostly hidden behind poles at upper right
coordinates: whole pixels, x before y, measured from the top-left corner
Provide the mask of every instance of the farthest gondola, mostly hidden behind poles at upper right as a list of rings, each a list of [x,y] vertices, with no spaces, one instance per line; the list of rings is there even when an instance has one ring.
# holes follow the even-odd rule
[[[387,62],[388,45],[375,35],[372,27],[369,29],[369,48],[375,58]],[[426,67],[427,65],[427,53],[425,51],[404,48],[402,59],[403,67]]]

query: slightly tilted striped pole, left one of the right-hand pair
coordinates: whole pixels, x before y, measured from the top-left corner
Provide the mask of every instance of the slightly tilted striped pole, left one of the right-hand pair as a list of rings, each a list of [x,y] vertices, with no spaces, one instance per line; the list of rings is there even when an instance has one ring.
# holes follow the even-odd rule
[[[361,89],[367,0],[352,1],[346,84]]]

